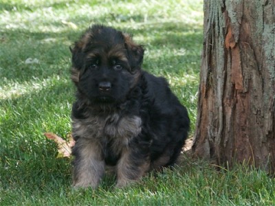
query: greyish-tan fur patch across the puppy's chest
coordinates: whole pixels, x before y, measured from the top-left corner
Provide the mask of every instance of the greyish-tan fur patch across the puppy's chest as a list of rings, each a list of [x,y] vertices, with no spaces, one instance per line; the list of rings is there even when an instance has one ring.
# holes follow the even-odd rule
[[[140,117],[135,115],[124,117],[118,114],[107,117],[92,116],[87,119],[74,119],[73,133],[76,136],[91,139],[129,141],[140,133],[141,124]]]

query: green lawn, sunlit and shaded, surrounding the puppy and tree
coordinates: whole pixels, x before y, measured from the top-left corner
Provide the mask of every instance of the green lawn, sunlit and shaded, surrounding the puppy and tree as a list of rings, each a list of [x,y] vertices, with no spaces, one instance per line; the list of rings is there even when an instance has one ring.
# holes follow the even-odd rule
[[[92,23],[145,45],[144,69],[164,76],[195,130],[202,48],[202,0],[0,1],[0,205],[274,205],[275,182],[261,170],[228,171],[182,155],[174,170],[116,189],[71,187],[69,159],[43,133],[71,130],[74,87],[69,45]],[[36,62],[27,64],[32,58]]]

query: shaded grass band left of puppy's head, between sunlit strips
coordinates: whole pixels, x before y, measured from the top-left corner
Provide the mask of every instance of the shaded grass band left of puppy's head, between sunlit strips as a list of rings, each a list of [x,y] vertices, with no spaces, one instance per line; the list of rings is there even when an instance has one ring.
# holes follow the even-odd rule
[[[73,30],[61,34],[21,29],[1,33],[5,40],[1,44],[3,58],[0,67],[5,82],[28,82],[31,78],[50,77],[53,73],[69,76],[71,54],[68,42],[71,42],[70,36],[75,34]],[[28,58],[36,58],[39,63],[26,64]]]

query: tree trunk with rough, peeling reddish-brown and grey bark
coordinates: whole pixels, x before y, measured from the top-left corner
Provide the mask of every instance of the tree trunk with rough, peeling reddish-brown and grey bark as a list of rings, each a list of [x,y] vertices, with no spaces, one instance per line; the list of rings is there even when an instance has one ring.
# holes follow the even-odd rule
[[[275,0],[204,0],[192,152],[275,169]]]

